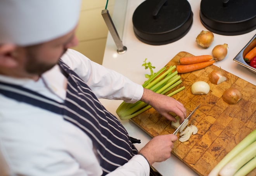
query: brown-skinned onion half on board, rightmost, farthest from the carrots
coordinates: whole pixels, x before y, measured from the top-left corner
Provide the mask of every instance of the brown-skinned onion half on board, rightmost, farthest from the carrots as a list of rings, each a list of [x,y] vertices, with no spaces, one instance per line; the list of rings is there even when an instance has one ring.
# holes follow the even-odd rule
[[[228,104],[237,104],[242,98],[242,93],[235,87],[229,87],[223,93],[223,100]]]

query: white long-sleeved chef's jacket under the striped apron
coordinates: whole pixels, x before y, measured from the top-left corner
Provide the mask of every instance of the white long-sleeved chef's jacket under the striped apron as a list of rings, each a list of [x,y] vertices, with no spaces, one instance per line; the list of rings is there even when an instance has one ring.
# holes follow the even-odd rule
[[[69,49],[61,58],[99,98],[140,100],[143,87]],[[22,85],[63,102],[66,78],[56,65],[39,80],[0,75],[0,81]],[[0,94],[0,151],[11,174],[25,176],[98,176],[102,174],[92,140],[61,115]],[[0,159],[0,162],[1,161]],[[7,166],[0,164],[0,167]],[[3,168],[2,168],[3,169]],[[1,168],[0,168],[1,171]],[[1,175],[1,173],[0,173]],[[109,175],[149,175],[149,164],[135,155]]]

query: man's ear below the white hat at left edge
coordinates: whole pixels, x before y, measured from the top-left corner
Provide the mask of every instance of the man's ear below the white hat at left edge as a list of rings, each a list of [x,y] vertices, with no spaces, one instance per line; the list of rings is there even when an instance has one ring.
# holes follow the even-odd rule
[[[0,67],[17,67],[16,49],[17,46],[14,44],[0,44]]]

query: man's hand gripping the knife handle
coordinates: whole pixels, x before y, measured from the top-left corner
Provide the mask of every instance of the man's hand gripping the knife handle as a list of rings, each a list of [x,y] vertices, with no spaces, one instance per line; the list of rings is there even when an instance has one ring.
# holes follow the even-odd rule
[[[139,153],[144,155],[151,166],[154,162],[162,162],[170,158],[173,142],[176,140],[177,136],[173,134],[154,137]]]

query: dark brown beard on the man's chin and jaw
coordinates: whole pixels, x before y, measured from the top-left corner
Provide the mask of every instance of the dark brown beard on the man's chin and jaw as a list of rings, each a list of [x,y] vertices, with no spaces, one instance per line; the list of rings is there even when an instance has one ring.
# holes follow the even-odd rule
[[[64,55],[64,53],[66,53],[66,51],[67,50],[64,50],[62,55]],[[59,58],[61,58],[61,56]],[[38,62],[35,59],[35,56],[33,56],[33,54],[32,54],[32,55],[28,56],[28,62],[25,65],[25,69],[30,74],[42,75],[44,72],[52,69],[55,65],[57,65],[58,62],[59,62],[59,60],[57,60],[57,62],[55,62],[55,63]]]

